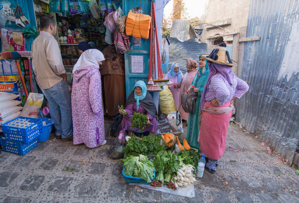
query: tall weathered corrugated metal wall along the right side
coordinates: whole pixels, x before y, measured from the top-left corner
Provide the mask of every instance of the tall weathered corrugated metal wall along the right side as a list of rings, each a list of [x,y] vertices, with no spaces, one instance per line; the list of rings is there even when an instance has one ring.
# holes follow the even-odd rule
[[[292,163],[299,142],[299,16],[296,0],[252,0],[241,79],[249,91],[237,102],[237,120]],[[240,68],[240,67],[239,67]]]

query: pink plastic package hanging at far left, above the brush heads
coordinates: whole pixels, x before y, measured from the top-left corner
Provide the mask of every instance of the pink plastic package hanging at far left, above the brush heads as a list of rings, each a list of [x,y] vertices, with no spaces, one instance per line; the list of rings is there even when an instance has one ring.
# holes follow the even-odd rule
[[[22,31],[1,29],[1,48],[4,51],[25,51],[25,38]]]

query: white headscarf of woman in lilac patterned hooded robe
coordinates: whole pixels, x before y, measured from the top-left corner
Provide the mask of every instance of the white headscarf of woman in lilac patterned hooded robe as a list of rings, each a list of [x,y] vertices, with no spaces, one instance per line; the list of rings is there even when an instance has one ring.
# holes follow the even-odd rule
[[[99,66],[97,62],[104,61],[104,55],[97,49],[88,49],[84,51],[81,56],[79,57],[77,63],[74,65],[73,73],[80,69],[81,66],[86,65],[95,65]]]

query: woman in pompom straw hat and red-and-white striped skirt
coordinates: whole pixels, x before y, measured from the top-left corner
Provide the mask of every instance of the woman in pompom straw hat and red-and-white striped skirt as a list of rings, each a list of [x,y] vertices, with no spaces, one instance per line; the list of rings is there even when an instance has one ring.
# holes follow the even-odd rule
[[[216,172],[218,159],[225,150],[228,124],[234,108],[231,101],[239,99],[249,89],[248,84],[231,71],[237,63],[230,59],[225,47],[222,42],[209,56],[202,56],[207,60],[209,76],[200,102],[202,117],[198,142],[208,159],[205,170],[210,173]]]

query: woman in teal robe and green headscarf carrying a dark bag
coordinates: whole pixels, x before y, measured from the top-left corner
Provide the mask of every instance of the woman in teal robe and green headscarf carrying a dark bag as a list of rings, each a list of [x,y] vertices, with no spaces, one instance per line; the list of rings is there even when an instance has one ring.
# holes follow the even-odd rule
[[[202,54],[199,56],[199,69],[197,70],[197,74],[195,75],[192,84],[187,90],[187,92],[189,92],[191,86],[194,86],[194,92],[198,92],[198,97],[195,102],[195,110],[193,113],[189,113],[186,136],[187,142],[190,145],[198,148],[200,147],[200,144],[197,142],[199,135],[200,98],[202,96],[202,90],[204,89],[205,84],[207,83],[209,75],[209,67],[207,61],[203,59],[202,56],[208,56],[208,54]]]

